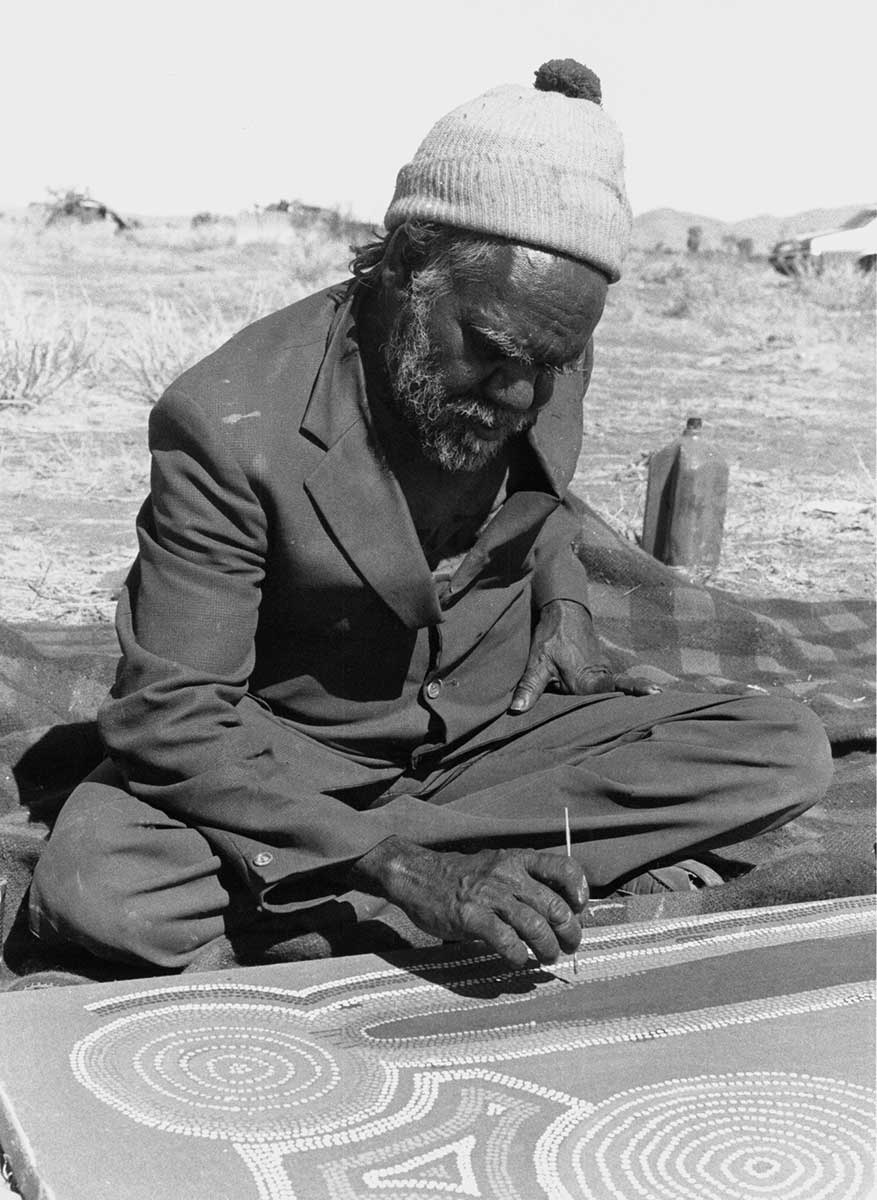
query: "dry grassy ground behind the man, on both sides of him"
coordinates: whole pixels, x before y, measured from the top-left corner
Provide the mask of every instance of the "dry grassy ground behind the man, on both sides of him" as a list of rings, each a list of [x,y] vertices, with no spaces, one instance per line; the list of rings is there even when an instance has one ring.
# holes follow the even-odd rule
[[[148,488],[150,404],[242,325],[344,277],[338,233],[270,217],[125,236],[0,221],[23,347],[12,371],[26,378],[28,353],[38,365],[36,347],[56,348],[0,412],[0,616],[110,619],[108,580],[134,553]],[[596,341],[575,487],[625,536],[642,526],[649,452],[699,414],[732,468],[714,582],[872,594],[873,277],[639,252]]]

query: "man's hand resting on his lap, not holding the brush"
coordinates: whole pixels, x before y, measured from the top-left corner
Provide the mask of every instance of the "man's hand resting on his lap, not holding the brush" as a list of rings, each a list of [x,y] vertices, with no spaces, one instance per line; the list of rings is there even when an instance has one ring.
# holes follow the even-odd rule
[[[600,648],[588,610],[575,600],[552,600],[539,613],[530,656],[515,689],[510,713],[525,713],[546,688],[567,696],[621,691],[651,696],[661,689],[648,679],[613,674]]]

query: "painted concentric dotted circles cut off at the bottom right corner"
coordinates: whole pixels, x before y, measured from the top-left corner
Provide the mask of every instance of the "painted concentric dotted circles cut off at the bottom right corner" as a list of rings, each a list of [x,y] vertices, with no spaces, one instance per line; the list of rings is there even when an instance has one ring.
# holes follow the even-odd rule
[[[855,1085],[704,1075],[612,1097],[559,1153],[593,1200],[861,1200],[873,1121],[873,1093]]]

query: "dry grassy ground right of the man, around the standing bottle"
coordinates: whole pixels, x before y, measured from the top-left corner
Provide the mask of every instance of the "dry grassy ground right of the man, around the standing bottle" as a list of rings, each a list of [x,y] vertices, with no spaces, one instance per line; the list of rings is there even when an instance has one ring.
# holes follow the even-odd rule
[[[721,254],[631,257],[597,331],[578,490],[637,541],[648,455],[701,415],[731,462],[711,582],[875,588],[875,277],[787,280]]]

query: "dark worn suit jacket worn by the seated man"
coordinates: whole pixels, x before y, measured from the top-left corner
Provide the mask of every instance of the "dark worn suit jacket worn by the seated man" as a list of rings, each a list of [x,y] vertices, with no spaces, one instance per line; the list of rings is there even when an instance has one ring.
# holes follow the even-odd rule
[[[308,746],[390,778],[461,743],[507,708],[534,610],[587,602],[566,494],[582,377],[558,380],[528,434],[539,486],[505,499],[439,604],[373,442],[354,296],[342,284],[257,322],[152,410],[122,660],[100,714],[131,791],[200,828],[258,893],[397,832],[392,806],[324,794]],[[277,720],[256,720],[251,697]],[[293,732],[301,769],[281,749]]]

